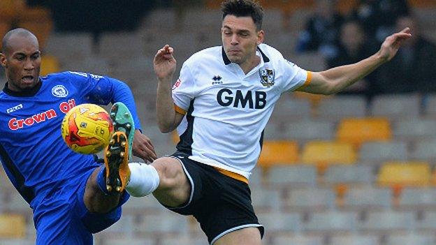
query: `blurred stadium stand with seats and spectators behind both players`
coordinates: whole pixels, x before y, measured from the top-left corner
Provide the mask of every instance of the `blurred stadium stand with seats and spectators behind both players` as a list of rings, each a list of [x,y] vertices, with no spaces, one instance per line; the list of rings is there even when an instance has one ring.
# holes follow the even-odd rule
[[[129,84],[144,132],[163,156],[177,135],[157,128],[152,59],[168,43],[180,69],[194,52],[220,45],[220,3],[0,0],[0,36],[15,27],[33,31],[43,75],[76,70]],[[405,27],[413,34],[390,63],[341,94],[283,94],[250,178],[264,244],[435,245],[436,1],[261,3],[266,43],[307,70],[368,57]],[[1,172],[0,244],[34,244],[34,237],[29,206]],[[131,198],[95,244],[207,242],[194,218],[147,197]]]

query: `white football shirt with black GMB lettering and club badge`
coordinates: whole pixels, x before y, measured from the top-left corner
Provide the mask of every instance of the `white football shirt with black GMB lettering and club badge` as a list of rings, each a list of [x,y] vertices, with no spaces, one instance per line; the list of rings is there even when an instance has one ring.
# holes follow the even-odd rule
[[[173,86],[175,110],[185,114],[177,127],[177,149],[200,163],[249,178],[263,129],[280,94],[310,82],[311,73],[266,44],[261,63],[245,74],[221,46],[193,54]]]

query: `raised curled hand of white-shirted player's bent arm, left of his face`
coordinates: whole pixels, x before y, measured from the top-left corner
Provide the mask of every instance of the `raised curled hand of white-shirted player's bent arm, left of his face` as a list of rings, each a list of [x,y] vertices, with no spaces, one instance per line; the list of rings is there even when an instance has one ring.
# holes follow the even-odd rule
[[[160,50],[157,50],[156,55],[154,55],[154,73],[156,73],[159,80],[170,80],[173,77],[175,65],[177,64],[173,57],[173,52],[173,47],[167,44]]]

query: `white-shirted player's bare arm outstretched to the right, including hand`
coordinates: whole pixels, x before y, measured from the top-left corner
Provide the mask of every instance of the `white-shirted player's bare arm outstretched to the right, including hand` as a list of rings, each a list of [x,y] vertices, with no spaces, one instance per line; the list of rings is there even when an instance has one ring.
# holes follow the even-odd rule
[[[361,80],[375,68],[390,61],[398,52],[402,42],[411,36],[410,29],[406,28],[398,33],[388,36],[379,52],[355,64],[338,66],[317,73],[312,73],[312,80],[305,87],[297,89],[312,94],[335,94],[342,91],[354,82]]]

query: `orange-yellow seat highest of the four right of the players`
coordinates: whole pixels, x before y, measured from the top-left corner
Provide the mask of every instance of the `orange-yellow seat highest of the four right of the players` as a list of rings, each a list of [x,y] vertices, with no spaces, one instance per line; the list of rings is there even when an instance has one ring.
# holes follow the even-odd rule
[[[363,142],[391,140],[391,124],[381,117],[342,119],[337,126],[336,138],[353,144],[357,149]]]

